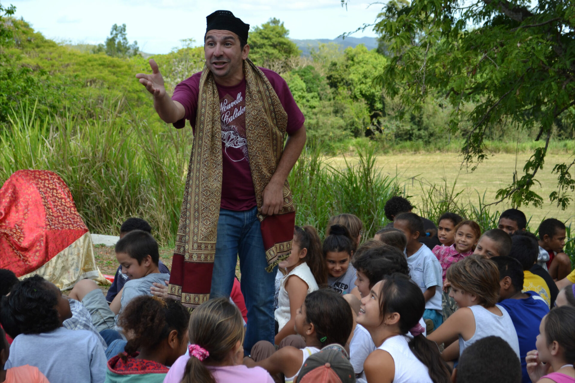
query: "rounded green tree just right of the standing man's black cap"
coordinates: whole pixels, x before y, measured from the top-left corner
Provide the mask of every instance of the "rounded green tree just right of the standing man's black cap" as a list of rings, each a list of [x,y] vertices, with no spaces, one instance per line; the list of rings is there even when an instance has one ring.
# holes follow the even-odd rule
[[[287,36],[289,30],[277,18],[270,18],[262,26],[255,26],[248,36],[250,59],[257,65],[267,67],[274,61],[282,62],[299,56],[300,49]]]

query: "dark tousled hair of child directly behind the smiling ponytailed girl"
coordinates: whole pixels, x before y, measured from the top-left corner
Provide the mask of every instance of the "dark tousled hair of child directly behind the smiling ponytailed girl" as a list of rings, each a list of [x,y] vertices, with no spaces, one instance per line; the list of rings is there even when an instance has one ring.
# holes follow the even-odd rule
[[[386,275],[393,273],[401,273],[409,277],[409,266],[405,255],[397,247],[390,245],[367,250],[355,258],[354,268],[369,279],[370,288]]]

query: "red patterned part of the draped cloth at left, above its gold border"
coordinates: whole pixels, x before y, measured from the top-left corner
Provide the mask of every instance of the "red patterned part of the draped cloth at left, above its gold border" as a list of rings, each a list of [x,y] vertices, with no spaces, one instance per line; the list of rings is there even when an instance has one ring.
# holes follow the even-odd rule
[[[33,272],[87,231],[56,173],[21,170],[2,185],[0,268],[18,277]]]

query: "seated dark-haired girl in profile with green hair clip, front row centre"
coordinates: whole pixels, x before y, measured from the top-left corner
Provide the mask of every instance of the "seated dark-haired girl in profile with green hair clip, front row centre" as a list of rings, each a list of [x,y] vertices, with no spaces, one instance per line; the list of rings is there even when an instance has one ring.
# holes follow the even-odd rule
[[[345,345],[352,326],[351,307],[339,293],[332,289],[314,291],[297,311],[296,331],[300,338],[292,341],[297,336],[287,336],[278,350],[270,342],[259,341],[252,347],[250,357],[244,358],[244,365],[263,367],[276,379],[281,374],[286,383],[292,383],[310,355],[332,343]]]

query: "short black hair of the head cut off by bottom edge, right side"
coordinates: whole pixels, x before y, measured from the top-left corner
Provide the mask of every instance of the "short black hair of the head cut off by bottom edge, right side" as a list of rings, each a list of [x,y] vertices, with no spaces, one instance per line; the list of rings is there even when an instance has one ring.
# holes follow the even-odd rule
[[[499,336],[486,336],[463,350],[457,365],[457,383],[520,383],[521,363]]]

